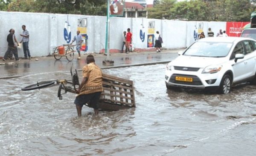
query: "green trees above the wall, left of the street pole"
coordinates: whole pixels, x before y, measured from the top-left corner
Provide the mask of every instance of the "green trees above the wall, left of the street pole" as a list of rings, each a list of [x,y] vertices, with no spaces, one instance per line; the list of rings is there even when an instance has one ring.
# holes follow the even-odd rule
[[[107,10],[105,0],[9,0],[7,6],[7,11],[102,16],[106,15]]]

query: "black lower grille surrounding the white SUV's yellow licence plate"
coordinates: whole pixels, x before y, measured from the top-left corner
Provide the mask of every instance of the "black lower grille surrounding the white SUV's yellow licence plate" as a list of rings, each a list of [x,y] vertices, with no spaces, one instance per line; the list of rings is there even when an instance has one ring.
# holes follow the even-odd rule
[[[175,77],[191,77],[193,78],[193,82],[184,82],[184,81],[176,81]],[[201,80],[195,75],[183,75],[183,74],[172,74],[169,82],[183,85],[203,85]]]

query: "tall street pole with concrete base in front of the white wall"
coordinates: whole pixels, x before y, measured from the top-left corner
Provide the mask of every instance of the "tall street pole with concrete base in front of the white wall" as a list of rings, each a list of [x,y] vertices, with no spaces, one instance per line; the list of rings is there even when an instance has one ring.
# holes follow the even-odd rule
[[[114,65],[114,61],[110,60],[110,54],[109,54],[109,45],[110,45],[110,0],[108,0],[108,7],[107,7],[107,22],[106,22],[106,41],[105,41],[105,55],[107,55],[107,59],[102,62],[103,65]]]

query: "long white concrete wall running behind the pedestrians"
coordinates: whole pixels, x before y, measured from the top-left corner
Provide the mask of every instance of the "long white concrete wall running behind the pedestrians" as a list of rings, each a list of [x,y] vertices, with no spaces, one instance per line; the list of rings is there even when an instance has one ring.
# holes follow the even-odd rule
[[[85,16],[69,14],[72,39],[76,35],[77,20],[87,18],[88,53],[99,53],[105,48],[106,17]],[[26,25],[30,34],[29,49],[31,56],[47,56],[52,54],[52,48],[67,44],[64,40],[64,23],[67,14],[44,14],[26,12],[0,11],[0,56],[7,50],[6,37],[9,29],[15,29],[17,40],[22,33],[21,26]],[[208,28],[212,28],[215,35],[219,29],[225,30],[226,22],[200,22],[200,21],[175,21],[145,18],[111,17],[110,49],[119,50],[122,45],[122,32],[131,28],[133,33],[133,47],[147,49],[148,22],[155,21],[155,31],[159,31],[163,38],[165,48],[184,48],[195,42],[194,31],[203,23],[203,30],[207,36]],[[145,40],[140,40],[140,30],[145,32]],[[23,50],[19,49],[19,56],[23,57]]]

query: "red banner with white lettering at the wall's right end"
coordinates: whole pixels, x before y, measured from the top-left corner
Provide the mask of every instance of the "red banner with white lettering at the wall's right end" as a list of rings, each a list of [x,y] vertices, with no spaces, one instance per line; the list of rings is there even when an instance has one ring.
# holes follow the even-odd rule
[[[226,33],[230,37],[240,37],[243,27],[250,22],[227,22]]]

